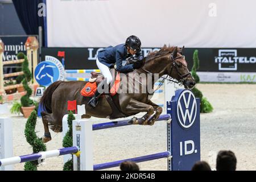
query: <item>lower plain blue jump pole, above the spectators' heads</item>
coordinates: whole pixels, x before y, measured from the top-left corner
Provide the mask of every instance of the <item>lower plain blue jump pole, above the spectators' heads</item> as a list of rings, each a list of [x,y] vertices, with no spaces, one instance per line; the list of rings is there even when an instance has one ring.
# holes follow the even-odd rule
[[[124,159],[124,160],[117,160],[115,162],[95,164],[95,165],[93,165],[93,170],[96,171],[96,170],[100,170],[100,169],[118,167],[122,162],[125,162],[125,161],[140,163],[140,162],[145,162],[145,161],[148,161],[148,160],[168,158],[170,156],[171,156],[171,152],[169,152],[169,151],[160,152],[160,153],[157,153],[157,154],[145,155],[145,156],[141,156],[141,157],[138,157],[138,158],[130,158],[130,159]]]

